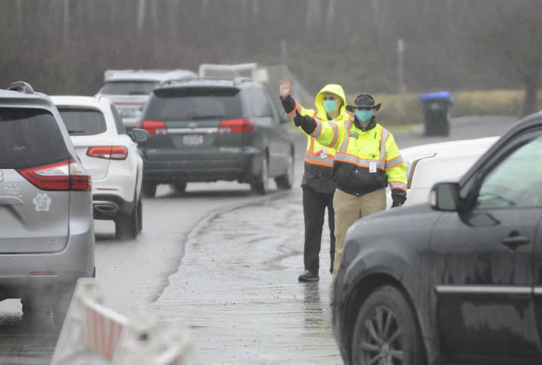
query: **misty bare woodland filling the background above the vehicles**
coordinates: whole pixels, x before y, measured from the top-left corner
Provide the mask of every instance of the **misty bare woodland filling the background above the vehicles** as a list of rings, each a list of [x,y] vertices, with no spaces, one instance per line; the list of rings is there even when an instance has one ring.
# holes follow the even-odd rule
[[[109,68],[283,62],[316,92],[522,88],[536,111],[538,0],[0,0],[0,80],[94,94]]]

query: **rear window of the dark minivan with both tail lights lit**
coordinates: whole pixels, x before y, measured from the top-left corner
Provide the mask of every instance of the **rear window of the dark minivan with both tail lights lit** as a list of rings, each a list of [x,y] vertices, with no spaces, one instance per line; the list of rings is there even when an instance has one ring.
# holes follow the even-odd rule
[[[145,119],[164,121],[242,117],[239,89],[229,87],[155,90],[145,111]]]

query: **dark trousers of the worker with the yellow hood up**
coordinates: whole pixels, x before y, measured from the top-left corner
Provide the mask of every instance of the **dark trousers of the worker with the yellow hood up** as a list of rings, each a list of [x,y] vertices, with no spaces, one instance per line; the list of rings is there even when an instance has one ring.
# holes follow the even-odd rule
[[[335,211],[333,211],[333,193],[314,192],[308,187],[303,187],[303,216],[305,218],[303,261],[305,270],[314,273],[318,273],[318,268],[320,268],[320,244],[322,242],[326,207],[327,223],[330,226],[330,272],[333,272],[333,261],[335,260]]]

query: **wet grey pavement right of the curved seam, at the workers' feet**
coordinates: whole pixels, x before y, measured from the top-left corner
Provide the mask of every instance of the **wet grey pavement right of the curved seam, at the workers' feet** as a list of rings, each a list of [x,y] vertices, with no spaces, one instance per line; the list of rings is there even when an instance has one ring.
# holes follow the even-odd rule
[[[193,231],[153,308],[191,328],[201,364],[341,364],[326,228],[320,282],[303,284],[301,194],[217,214]]]

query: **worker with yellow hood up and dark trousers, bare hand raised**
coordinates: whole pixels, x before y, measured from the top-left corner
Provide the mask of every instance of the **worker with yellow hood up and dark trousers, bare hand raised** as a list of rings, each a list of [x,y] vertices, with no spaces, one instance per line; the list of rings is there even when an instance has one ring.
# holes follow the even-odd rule
[[[284,111],[292,121],[296,111],[301,115],[313,116],[321,120],[335,120],[344,123],[350,116],[346,112],[346,97],[340,85],[325,85],[316,94],[316,109],[305,109],[291,97],[291,78],[279,82],[280,98]],[[307,137],[305,166],[301,188],[303,189],[303,218],[305,223],[305,242],[303,248],[304,271],[299,276],[301,282],[319,280],[320,244],[324,225],[325,209],[330,227],[330,273],[335,261],[335,212],[333,194],[335,181],[332,179],[333,156],[335,150],[320,144],[312,137]]]

